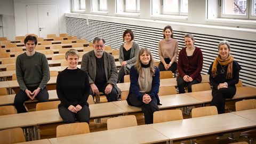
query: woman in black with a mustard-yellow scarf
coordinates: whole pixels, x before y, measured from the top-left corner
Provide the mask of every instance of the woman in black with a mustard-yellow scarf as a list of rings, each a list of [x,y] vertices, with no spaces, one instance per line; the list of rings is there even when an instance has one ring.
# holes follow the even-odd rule
[[[225,113],[225,100],[232,99],[236,94],[235,84],[239,81],[239,71],[242,69],[230,53],[228,41],[218,44],[218,57],[210,66],[208,74],[212,89],[211,106],[216,106],[219,114]]]

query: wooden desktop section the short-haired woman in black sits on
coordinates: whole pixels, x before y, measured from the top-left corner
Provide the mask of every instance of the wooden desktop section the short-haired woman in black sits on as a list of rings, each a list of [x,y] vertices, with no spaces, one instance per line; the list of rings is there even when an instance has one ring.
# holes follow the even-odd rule
[[[97,103],[90,105],[90,118],[122,115],[125,111],[112,102]],[[58,109],[31,111],[29,114],[35,119],[38,125],[62,122]]]

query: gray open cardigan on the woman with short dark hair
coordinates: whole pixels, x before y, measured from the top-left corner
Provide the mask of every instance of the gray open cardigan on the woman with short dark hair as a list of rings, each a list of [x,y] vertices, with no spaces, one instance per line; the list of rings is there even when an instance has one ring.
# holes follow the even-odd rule
[[[124,44],[119,47],[119,62],[122,63],[124,61],[124,52],[123,52]],[[140,45],[137,42],[133,42],[130,54],[130,60],[127,60],[127,64],[124,66],[125,75],[130,73],[131,67],[137,60],[138,54],[140,51]]]

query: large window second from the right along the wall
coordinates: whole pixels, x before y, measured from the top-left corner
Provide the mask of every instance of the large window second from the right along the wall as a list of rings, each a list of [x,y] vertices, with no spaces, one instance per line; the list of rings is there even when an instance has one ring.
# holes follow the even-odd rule
[[[152,14],[188,15],[188,0],[152,0]]]

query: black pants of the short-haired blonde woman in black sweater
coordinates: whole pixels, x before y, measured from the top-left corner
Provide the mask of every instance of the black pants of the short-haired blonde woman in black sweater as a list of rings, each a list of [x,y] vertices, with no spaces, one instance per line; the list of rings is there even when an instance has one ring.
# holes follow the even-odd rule
[[[61,106],[59,107],[59,113],[60,117],[63,119],[63,122],[65,122],[66,124],[75,123],[76,119],[79,122],[86,122],[89,124],[90,109],[87,105],[84,105],[83,108],[77,113],[72,113],[70,110],[68,110],[68,108]]]

